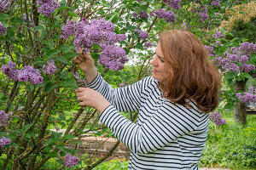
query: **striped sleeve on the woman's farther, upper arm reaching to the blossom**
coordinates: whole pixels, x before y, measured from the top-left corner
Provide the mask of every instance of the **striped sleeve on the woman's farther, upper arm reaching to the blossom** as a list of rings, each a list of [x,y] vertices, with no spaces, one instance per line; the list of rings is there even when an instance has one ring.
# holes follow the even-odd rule
[[[124,88],[112,88],[98,73],[95,80],[88,84],[88,88],[95,89],[114,105],[118,111],[139,111],[143,95],[143,86],[148,78]]]

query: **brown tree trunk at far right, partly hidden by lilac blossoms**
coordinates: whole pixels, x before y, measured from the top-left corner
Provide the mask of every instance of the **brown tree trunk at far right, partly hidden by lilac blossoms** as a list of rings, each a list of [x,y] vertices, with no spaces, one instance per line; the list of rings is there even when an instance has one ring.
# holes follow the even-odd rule
[[[235,83],[236,93],[238,90],[246,91],[247,81],[237,81]],[[234,118],[236,123],[247,124],[247,105],[243,102],[236,102],[234,107]]]

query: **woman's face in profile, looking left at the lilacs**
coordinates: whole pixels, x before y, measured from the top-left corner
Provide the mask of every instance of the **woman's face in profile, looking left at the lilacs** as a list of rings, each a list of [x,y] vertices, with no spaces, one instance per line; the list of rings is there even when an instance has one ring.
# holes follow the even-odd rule
[[[160,42],[155,49],[154,59],[150,62],[151,65],[154,66],[153,68],[153,77],[154,79],[158,80],[159,82],[163,79],[163,77],[167,74],[166,72],[166,63],[164,54],[160,47]]]

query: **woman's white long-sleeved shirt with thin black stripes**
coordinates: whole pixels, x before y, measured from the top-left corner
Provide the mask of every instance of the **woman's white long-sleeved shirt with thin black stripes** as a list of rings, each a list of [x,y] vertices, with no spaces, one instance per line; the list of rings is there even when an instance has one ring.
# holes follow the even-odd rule
[[[100,122],[131,150],[129,169],[199,169],[209,125],[209,116],[164,99],[158,81],[145,77],[124,88],[112,88],[100,74],[88,85],[112,104]],[[131,122],[119,111],[139,111]]]

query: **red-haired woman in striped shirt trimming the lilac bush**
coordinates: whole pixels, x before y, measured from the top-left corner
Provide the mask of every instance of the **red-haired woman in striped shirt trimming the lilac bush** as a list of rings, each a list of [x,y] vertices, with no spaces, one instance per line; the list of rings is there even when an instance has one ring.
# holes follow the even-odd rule
[[[79,105],[100,111],[100,121],[130,148],[129,169],[199,169],[220,76],[192,33],[162,33],[151,61],[153,77],[125,88],[105,82],[89,55],[80,54],[74,62],[89,83],[76,89]],[[139,111],[137,122],[119,111]]]

